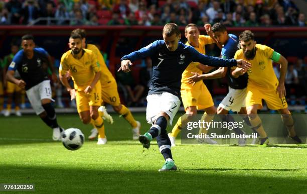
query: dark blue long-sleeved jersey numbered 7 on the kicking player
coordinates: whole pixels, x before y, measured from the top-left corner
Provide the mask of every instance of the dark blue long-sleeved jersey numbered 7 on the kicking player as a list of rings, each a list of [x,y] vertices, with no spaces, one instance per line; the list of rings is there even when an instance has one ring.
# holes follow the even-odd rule
[[[216,67],[237,65],[235,59],[203,55],[182,42],[178,43],[175,51],[170,51],[164,40],[155,41],[138,51],[123,56],[121,60],[135,61],[148,56],[152,60],[152,78],[148,94],[170,92],[180,96],[181,75],[192,61]]]

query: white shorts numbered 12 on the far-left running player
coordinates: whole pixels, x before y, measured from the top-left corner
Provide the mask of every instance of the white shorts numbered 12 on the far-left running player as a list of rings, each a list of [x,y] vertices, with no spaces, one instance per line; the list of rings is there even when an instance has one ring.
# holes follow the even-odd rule
[[[34,85],[30,89],[26,90],[28,99],[37,115],[43,113],[45,110],[42,106],[41,100],[52,99],[52,91],[50,86],[50,80],[44,80],[37,85]]]

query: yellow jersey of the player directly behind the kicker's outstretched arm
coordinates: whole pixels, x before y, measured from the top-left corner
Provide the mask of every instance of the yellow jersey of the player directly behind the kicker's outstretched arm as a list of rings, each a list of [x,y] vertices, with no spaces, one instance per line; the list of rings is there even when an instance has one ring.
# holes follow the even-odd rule
[[[194,47],[198,52],[202,53],[202,54],[206,54],[206,50],[205,50],[205,45],[206,44],[212,44],[214,43],[214,40],[210,37],[210,36],[204,36],[204,35],[200,35],[199,39],[199,46],[198,47]],[[189,42],[186,43],[186,45],[189,45]],[[186,68],[186,70],[182,73],[182,78],[181,78],[181,87],[191,87],[192,84],[188,83],[188,78],[193,76],[193,74],[191,72],[197,72],[199,74],[203,74],[202,70],[200,70],[199,68],[197,68],[197,65],[199,64],[199,62],[191,62],[188,67]],[[202,81],[198,81],[196,82],[195,85],[199,85],[202,84]]]

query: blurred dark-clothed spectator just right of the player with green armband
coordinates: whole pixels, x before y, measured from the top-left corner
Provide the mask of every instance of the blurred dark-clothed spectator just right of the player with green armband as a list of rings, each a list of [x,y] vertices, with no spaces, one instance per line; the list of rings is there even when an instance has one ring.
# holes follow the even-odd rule
[[[295,92],[297,92],[297,90],[298,90],[298,76],[297,76],[297,71],[296,71],[296,69],[294,69],[293,64],[288,65],[288,70],[287,70],[287,74],[286,74],[284,83],[285,83],[284,85],[285,85],[285,88],[286,88],[286,93],[288,95],[291,94],[291,89],[294,89]]]

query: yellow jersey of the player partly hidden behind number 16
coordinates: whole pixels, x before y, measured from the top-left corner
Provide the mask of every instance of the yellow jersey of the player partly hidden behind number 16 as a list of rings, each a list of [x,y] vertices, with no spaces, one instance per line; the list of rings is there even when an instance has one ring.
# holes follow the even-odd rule
[[[101,76],[100,76],[101,87],[106,86],[106,84],[110,83],[111,81],[115,81],[112,73],[105,64],[103,56],[100,53],[99,49],[93,44],[87,44],[86,49],[93,51],[97,56],[97,61],[99,62],[101,68]]]

